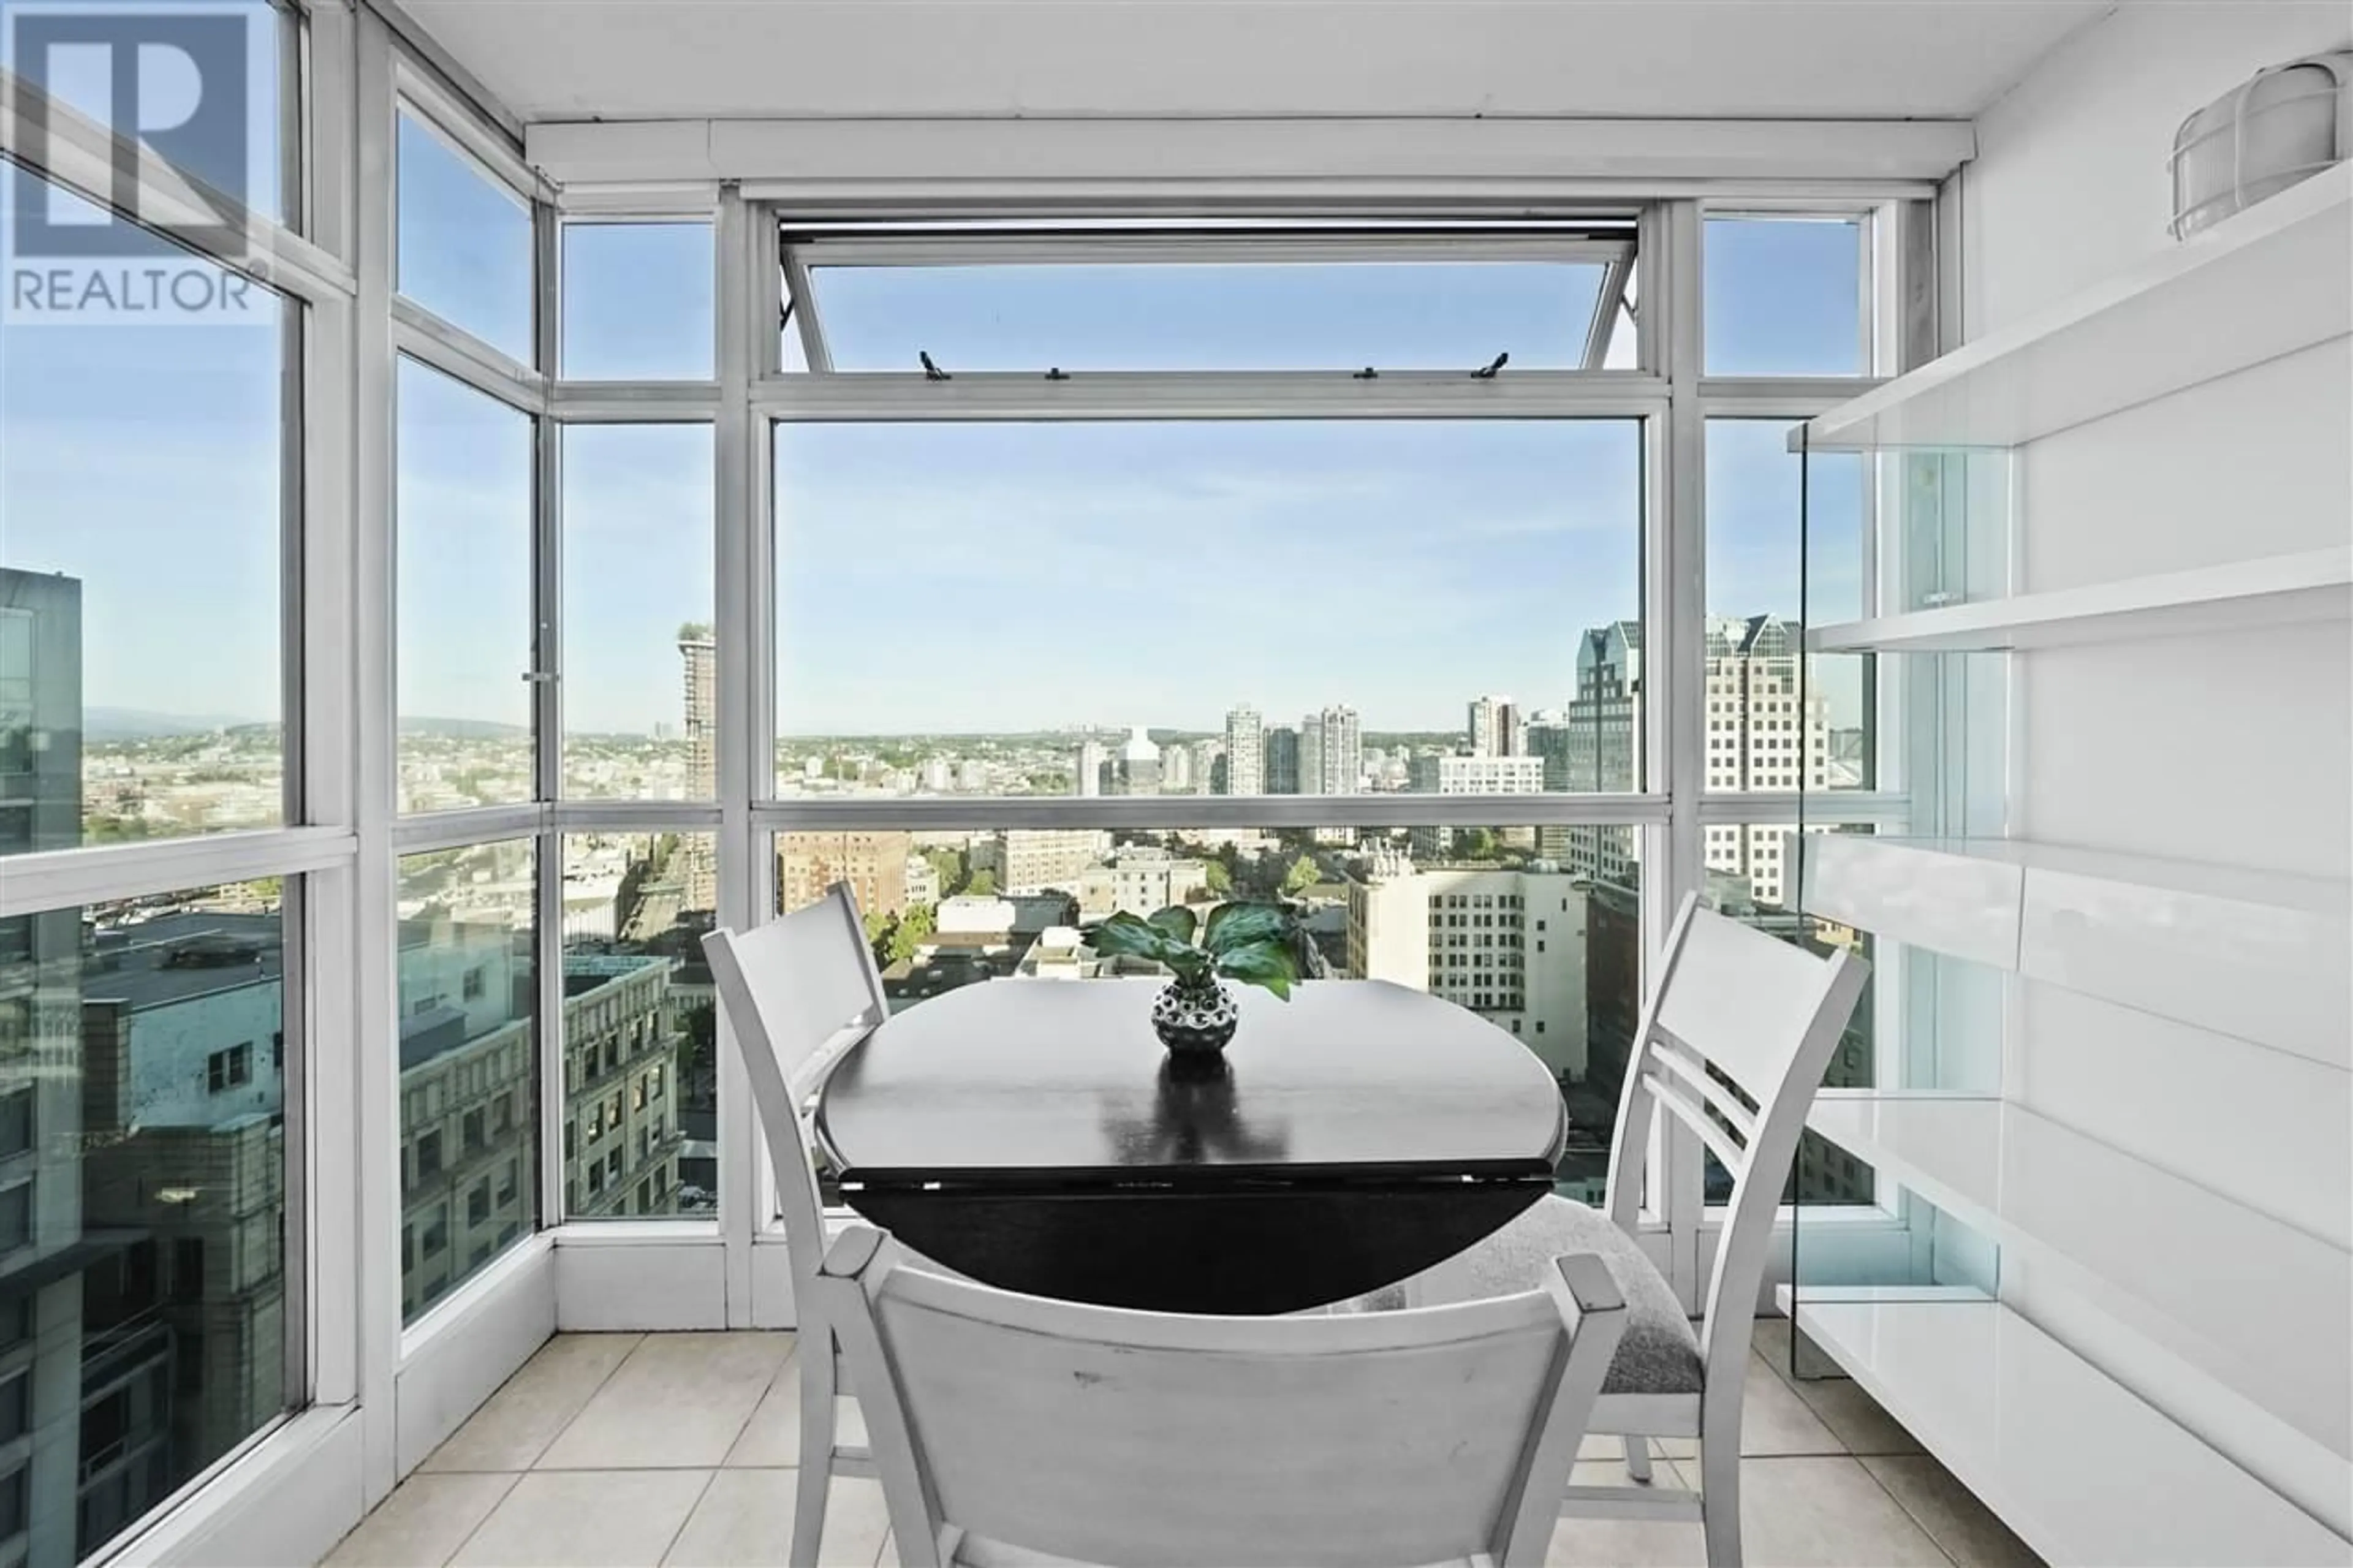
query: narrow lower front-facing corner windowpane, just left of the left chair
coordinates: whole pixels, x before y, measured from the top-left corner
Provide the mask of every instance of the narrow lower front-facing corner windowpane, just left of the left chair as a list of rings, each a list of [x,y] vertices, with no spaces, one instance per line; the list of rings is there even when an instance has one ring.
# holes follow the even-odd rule
[[[718,1208],[713,833],[565,838],[565,1217]]]

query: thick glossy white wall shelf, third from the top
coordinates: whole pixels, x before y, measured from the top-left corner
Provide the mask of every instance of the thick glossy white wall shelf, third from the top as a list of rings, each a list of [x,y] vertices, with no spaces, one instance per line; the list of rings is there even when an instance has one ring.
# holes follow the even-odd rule
[[[2353,883],[2026,838],[1798,857],[1807,913],[2353,1071]]]

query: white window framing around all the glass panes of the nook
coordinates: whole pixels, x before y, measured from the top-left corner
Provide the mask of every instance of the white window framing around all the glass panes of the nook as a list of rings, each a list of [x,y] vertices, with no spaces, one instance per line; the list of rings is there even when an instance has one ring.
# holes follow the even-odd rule
[[[1908,803],[1901,791],[1814,798],[1800,815],[1798,793],[1706,796],[1704,676],[1697,629],[1704,532],[1704,419],[1708,414],[1809,417],[1857,396],[1871,379],[1720,379],[1701,374],[1699,356],[1699,238],[1701,217],[1718,195],[1727,212],[1873,212],[1875,268],[1873,370],[1892,374],[1913,358],[1889,356],[1897,341],[1918,339],[1915,311],[1937,290],[1911,287],[1925,254],[1897,245],[1885,219],[1925,210],[1934,186],[1871,179],[1868,184],[1784,184],[1769,198],[1737,181],[1659,181],[1649,191],[1624,184],[1562,184],[1562,198],[1593,198],[1626,210],[1642,202],[1638,254],[1602,257],[1612,266],[1605,301],[1640,278],[1635,318],[1638,370],[1513,372],[1471,381],[1464,372],[1384,372],[1377,381],[1346,374],[1285,372],[1134,372],[1085,374],[1045,384],[1031,374],[958,374],[925,384],[911,374],[831,377],[824,370],[784,374],[776,365],[776,320],[791,268],[875,257],[915,257],[885,247],[880,235],[812,240],[786,254],[779,207],[767,195],[708,179],[671,184],[609,184],[565,191],[544,181],[522,155],[520,125],[480,87],[440,59],[398,12],[353,0],[299,0],[304,26],[299,120],[304,122],[299,179],[289,186],[289,221],[240,214],[235,238],[209,259],[242,275],[268,280],[296,299],[301,330],[301,400],[287,433],[299,490],[289,490],[287,673],[289,673],[289,812],[282,829],[219,833],[155,845],[59,850],[12,857],[0,871],[0,913],[26,913],[172,888],[285,876],[287,888],[287,1097],[289,1147],[289,1311],[301,1323],[289,1349],[313,1401],[311,1410],[256,1434],[181,1502],[136,1528],[108,1556],[136,1559],[167,1552],[174,1540],[198,1540],[240,1502],[285,1502],[287,1469],[315,1457],[360,1474],[358,1504],[381,1500],[398,1474],[431,1443],[438,1417],[461,1415],[527,1356],[551,1323],[574,1328],[621,1326],[779,1326],[788,1293],[774,1236],[765,1154],[746,1083],[722,1050],[720,1085],[720,1217],[565,1224],[562,1217],[562,836],[574,831],[708,831],[718,836],[720,918],[751,925],[774,904],[774,859],[767,836],[791,826],[1169,826],[1181,824],[1367,824],[1391,826],[1400,810],[1419,822],[1485,824],[1579,822],[1633,824],[1642,833],[1645,946],[1659,939],[1682,888],[1701,885],[1708,824],[1741,822],[1897,822]],[[24,89],[0,80],[14,101]],[[534,212],[536,320],[529,365],[442,323],[393,290],[393,144],[395,115],[409,111],[459,148],[478,170]],[[19,155],[0,113],[0,153]],[[113,139],[94,127],[52,141],[42,174],[94,200],[113,181]],[[165,202],[179,179],[153,155],[139,153],[144,200]],[[1414,217],[1435,198],[1414,179],[1355,179],[1337,195],[1313,181],[1228,181],[1231,191],[1195,191],[1195,205],[1231,207],[1235,217],[1318,221],[1346,212]],[[1480,214],[1449,205],[1454,217],[1508,219],[1525,212],[1520,181],[1497,210]],[[805,198],[807,188],[793,188]],[[1148,181],[1089,181],[1089,202],[1104,214],[1144,217],[1160,193]],[[915,217],[1019,219],[1038,212],[1038,191],[955,198],[953,212]],[[1002,210],[1000,210],[1002,202]],[[1021,207],[1028,202],[1028,210]],[[167,207],[148,207],[165,212]],[[885,217],[882,207],[866,207]],[[715,374],[708,381],[560,381],[560,224],[678,221],[708,217],[715,226]],[[906,217],[906,214],[899,214]],[[1007,259],[1028,240],[988,240],[972,254]],[[1381,235],[1306,238],[1318,254],[1339,245],[1386,245],[1407,254],[1417,240]],[[929,242],[925,242],[929,245]],[[965,240],[955,240],[965,245]],[[1087,254],[1099,238],[1085,240]],[[1209,259],[1242,254],[1247,240],[1127,238],[1122,254]],[[826,250],[833,247],[833,250]],[[941,252],[946,254],[946,252]],[[1042,252],[1038,252],[1042,254]],[[1449,250],[1447,254],[1461,254]],[[1562,252],[1567,254],[1567,252]],[[1887,259],[1901,257],[1901,268]],[[1586,259],[1581,252],[1577,259]],[[913,261],[911,261],[913,264]],[[805,294],[802,294],[805,297]],[[1605,311],[1598,311],[1605,315]],[[814,327],[814,320],[812,320]],[[560,711],[553,680],[539,683],[539,784],[534,800],[475,812],[400,817],[395,808],[398,739],[393,699],[393,372],[398,356],[534,417],[534,577],[544,622],[539,673],[560,673],[560,431],[567,424],[696,421],[713,426],[715,518],[713,560],[720,584],[713,622],[720,638],[718,800],[635,803],[560,798]],[[1595,365],[1600,348],[1588,351]],[[812,360],[814,363],[814,360]],[[953,370],[953,367],[951,367]],[[1642,421],[1645,471],[1645,636],[1654,690],[1647,702],[1645,756],[1652,777],[1626,796],[1341,796],[1313,798],[1186,798],[1181,812],[1162,800],[920,800],[816,803],[774,796],[774,539],[772,436],[798,419],[1454,419],[1454,417],[1633,417]],[[306,607],[320,607],[308,614]],[[348,614],[346,614],[348,610]],[[1882,730],[1885,735],[1885,730]],[[1501,817],[1499,817],[1501,812]],[[395,918],[398,857],[529,836],[539,850],[539,984],[544,1026],[541,1071],[541,1215],[544,1227],[492,1260],[473,1281],[452,1290],[419,1323],[400,1326],[400,1090],[398,1090],[398,975]],[[1882,998],[1887,1005],[1887,998]],[[1882,1043],[1894,1029],[1882,1029]],[[332,1050],[318,1045],[334,1043]],[[1697,1140],[1657,1135],[1649,1158],[1649,1220],[1645,1245],[1680,1288],[1697,1297],[1718,1215],[1699,1203]],[[344,1203],[351,1208],[344,1208]],[[320,1208],[325,1205],[325,1208]],[[1809,1215],[1812,1220],[1812,1215]],[[1892,1220],[1892,1224],[1889,1224]],[[1901,1243],[1899,1217],[1864,1212],[1852,1229],[1859,1245]],[[1812,1236],[1812,1231],[1809,1231]],[[1809,1241],[1812,1245],[1812,1241]],[[558,1278],[565,1290],[558,1295]],[[642,1281],[642,1283],[640,1283]],[[685,1300],[685,1307],[673,1302]],[[680,1316],[685,1314],[685,1316]],[[635,1321],[633,1321],[635,1318]],[[692,1323],[687,1321],[692,1318]],[[409,1387],[414,1382],[414,1387]],[[398,1394],[398,1396],[395,1396]],[[438,1415],[414,1415],[419,1410]],[[292,1457],[289,1457],[292,1455]],[[216,1486],[207,1486],[216,1481]],[[327,1488],[334,1490],[334,1488]],[[341,1495],[341,1493],[336,1493]],[[336,1504],[341,1507],[341,1504]],[[193,1535],[195,1533],[195,1535]],[[214,1535],[212,1540],[219,1540]],[[332,1542],[332,1535],[327,1537]],[[325,1547],[327,1542],[320,1542]]]

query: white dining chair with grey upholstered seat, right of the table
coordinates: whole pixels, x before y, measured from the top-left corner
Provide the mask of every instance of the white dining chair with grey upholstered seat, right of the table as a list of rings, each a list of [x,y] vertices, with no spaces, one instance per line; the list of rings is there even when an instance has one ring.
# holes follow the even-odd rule
[[[1388,1311],[1433,1300],[1527,1290],[1544,1260],[1593,1253],[1626,1295],[1626,1337],[1593,1410],[1593,1431],[1626,1446],[1633,1486],[1572,1486],[1562,1514],[1692,1519],[1708,1566],[1741,1561],[1741,1387],[1774,1212],[1805,1114],[1871,965],[1817,958],[1685,897],[1635,1031],[1609,1144],[1607,1212],[1541,1198],[1466,1253],[1358,1297]],[[1699,1135],[1732,1175],[1699,1328],[1635,1243],[1642,1158],[1659,1111]],[[1649,1439],[1699,1439],[1699,1493],[1649,1490]]]

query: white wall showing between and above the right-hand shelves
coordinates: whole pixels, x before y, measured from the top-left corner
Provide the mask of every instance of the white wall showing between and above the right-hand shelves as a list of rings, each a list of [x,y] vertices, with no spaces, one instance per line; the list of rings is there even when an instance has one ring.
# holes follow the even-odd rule
[[[2261,66],[2353,45],[2327,2],[2122,5],[1979,122],[1960,177],[1962,327],[1984,337],[2174,245],[2174,127]],[[2195,323],[2184,323],[2195,330]],[[2019,579],[2059,589],[2344,544],[2353,344],[2257,365],[2031,445]],[[2012,831],[2097,850],[2353,873],[2344,622],[2014,659]],[[2344,1248],[2353,1083],[2337,1067],[2021,982],[2005,1092]],[[2167,1245],[2162,1215],[2118,1215]],[[2200,1269],[2181,1257],[2184,1278]],[[2353,1257],[2346,1260],[2353,1269]],[[2184,1302],[2094,1304],[2002,1260],[2002,1297],[2240,1464],[2353,1533],[2344,1356],[2179,1330]],[[2264,1281],[2245,1281],[2264,1290]],[[2325,1373],[2320,1368],[2327,1368]]]

